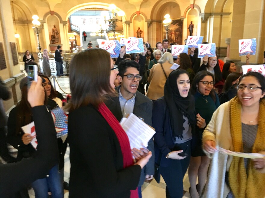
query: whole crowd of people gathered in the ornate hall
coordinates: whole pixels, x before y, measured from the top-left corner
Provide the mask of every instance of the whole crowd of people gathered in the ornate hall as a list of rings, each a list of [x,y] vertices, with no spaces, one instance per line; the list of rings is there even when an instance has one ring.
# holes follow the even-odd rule
[[[59,106],[69,116],[67,139],[55,142],[57,162],[45,169],[47,177],[28,180],[36,197],[64,196],[67,143],[69,197],[141,198],[144,181],[155,178],[159,182],[161,175],[166,197],[179,198],[188,169],[192,198],[265,196],[264,158],[218,152],[221,147],[265,154],[265,77],[252,71],[242,75],[234,62],[223,63],[218,55],[198,58],[194,47],[174,60],[168,46],[164,39],[157,42],[156,50],[148,43],[143,53],[132,55],[122,47],[115,59],[100,48],[76,53],[69,70],[71,99],[65,107],[64,96],[51,85],[50,73],[39,74],[42,82],[38,85],[42,83],[45,90],[39,105],[48,110]],[[58,46],[57,54],[59,50]],[[28,51],[25,58],[27,63],[34,61]],[[55,61],[60,76],[61,59]],[[176,70],[174,62],[179,65]],[[18,149],[16,159],[7,157],[10,163],[34,159],[39,152],[30,144],[33,137],[21,129],[35,121],[28,83],[27,77],[20,82],[22,98],[8,118],[6,141]],[[156,131],[147,148],[130,147],[119,124],[130,113]],[[13,193],[27,194],[27,185]]]

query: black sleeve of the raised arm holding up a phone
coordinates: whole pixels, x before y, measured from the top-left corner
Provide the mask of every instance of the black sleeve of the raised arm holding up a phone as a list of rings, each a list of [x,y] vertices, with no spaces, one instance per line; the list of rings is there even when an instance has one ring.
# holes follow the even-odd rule
[[[45,106],[31,109],[35,122],[38,146],[31,158],[17,163],[0,164],[0,197],[9,197],[30,184],[43,178],[58,162],[54,123]],[[47,160],[49,159],[49,160]]]

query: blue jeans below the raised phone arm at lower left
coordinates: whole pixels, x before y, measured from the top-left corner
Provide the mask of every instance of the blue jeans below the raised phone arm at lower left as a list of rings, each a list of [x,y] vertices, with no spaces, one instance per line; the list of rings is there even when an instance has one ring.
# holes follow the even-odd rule
[[[58,170],[58,164],[51,168],[48,177],[37,179],[31,183],[36,198],[48,198],[48,191],[51,192],[52,198],[64,197],[63,184]]]

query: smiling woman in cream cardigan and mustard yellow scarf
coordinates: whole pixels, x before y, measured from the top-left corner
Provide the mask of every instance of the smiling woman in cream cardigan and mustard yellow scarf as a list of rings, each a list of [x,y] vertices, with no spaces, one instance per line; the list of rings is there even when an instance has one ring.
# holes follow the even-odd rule
[[[265,154],[265,77],[248,72],[239,79],[237,96],[222,104],[203,133],[211,157],[203,197],[264,197],[265,159],[232,157],[218,147]]]

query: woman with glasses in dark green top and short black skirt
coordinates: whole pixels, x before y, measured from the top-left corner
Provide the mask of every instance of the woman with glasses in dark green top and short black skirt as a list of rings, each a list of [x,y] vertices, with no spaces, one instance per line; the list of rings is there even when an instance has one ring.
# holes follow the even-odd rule
[[[191,141],[191,161],[189,165],[190,194],[192,198],[198,198],[207,179],[207,170],[210,163],[202,150],[202,133],[206,125],[210,122],[214,111],[220,106],[219,99],[214,87],[214,75],[208,71],[196,73],[192,83],[192,93],[195,99],[195,110],[197,119],[203,124],[197,125],[195,135]],[[201,118],[199,118],[201,116]],[[196,185],[198,176],[198,185]]]

